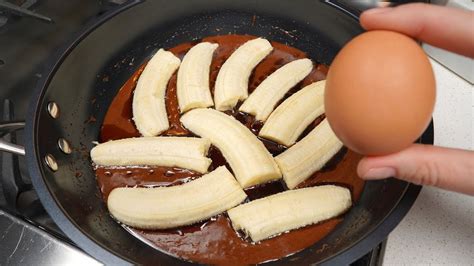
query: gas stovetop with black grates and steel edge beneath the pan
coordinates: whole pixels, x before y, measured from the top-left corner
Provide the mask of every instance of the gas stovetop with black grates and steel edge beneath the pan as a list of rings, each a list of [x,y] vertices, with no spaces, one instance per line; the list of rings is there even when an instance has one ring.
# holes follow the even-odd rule
[[[85,23],[124,2],[0,0],[1,121],[24,120],[49,56]],[[0,138],[21,144],[22,132],[0,132]],[[24,159],[1,152],[0,157],[0,265],[97,263],[76,247],[46,213],[31,185]],[[384,247],[381,243],[353,265],[380,265]]]

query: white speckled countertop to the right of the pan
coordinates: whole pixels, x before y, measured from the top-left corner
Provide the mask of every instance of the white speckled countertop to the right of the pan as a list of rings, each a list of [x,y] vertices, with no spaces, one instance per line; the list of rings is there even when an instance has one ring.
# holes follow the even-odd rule
[[[473,150],[473,85],[435,61],[432,65],[437,84],[435,145]],[[389,235],[383,264],[474,265],[474,197],[423,187]]]

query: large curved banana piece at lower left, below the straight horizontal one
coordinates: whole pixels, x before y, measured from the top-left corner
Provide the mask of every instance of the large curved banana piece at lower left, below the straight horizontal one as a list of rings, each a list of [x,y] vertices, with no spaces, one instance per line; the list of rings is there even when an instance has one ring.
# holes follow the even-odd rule
[[[183,185],[158,188],[116,188],[107,207],[120,222],[142,229],[193,224],[238,205],[247,195],[221,166]]]

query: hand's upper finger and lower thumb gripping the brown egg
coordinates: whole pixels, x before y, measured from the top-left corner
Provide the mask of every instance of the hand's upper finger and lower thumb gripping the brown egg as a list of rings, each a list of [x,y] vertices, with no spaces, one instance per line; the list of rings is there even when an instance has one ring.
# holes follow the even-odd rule
[[[366,30],[392,30],[431,45],[474,57],[474,12],[427,4],[375,8],[362,13]],[[449,26],[448,26],[449,25]],[[474,195],[474,152],[413,144],[398,153],[365,157],[363,179],[395,176],[421,185]]]

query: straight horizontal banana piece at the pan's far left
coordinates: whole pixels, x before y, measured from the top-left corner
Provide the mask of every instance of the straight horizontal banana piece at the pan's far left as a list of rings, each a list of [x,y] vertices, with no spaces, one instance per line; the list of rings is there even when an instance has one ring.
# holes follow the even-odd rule
[[[206,173],[211,159],[207,139],[188,137],[142,137],[112,140],[92,148],[96,165],[156,165],[186,168]]]

